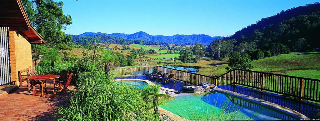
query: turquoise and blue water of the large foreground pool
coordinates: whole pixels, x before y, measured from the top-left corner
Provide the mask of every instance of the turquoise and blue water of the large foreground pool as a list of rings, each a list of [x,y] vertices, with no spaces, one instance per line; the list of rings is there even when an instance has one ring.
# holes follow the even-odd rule
[[[299,120],[262,105],[213,91],[206,94],[175,96],[172,100],[165,102],[167,105],[160,107],[189,120],[199,120],[199,118],[194,117],[199,115],[202,115],[202,117],[214,117],[206,120],[218,120],[217,118],[219,117],[231,116],[235,116],[232,120]],[[220,114],[224,115],[218,116]]]

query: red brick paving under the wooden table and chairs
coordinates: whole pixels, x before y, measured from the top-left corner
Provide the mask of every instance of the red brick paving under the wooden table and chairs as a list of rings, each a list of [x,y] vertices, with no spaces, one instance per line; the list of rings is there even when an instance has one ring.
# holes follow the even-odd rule
[[[73,90],[73,86],[68,87]],[[29,87],[19,88],[12,93],[0,98],[0,121],[12,120],[56,120],[56,106],[67,106],[70,92],[60,95],[53,94],[52,81],[47,83],[49,94],[44,97],[31,95]],[[41,92],[41,90],[36,90]]]

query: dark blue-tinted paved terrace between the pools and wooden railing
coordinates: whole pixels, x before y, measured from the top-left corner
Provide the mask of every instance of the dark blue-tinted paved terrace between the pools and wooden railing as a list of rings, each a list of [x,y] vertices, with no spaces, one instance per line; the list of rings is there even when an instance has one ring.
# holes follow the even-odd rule
[[[127,77],[122,77],[123,79],[145,79],[145,80],[150,80],[148,77],[145,75],[140,75],[140,76],[127,76]],[[116,79],[121,79],[121,77],[116,77]],[[150,80],[153,83],[158,83],[160,82],[154,82],[153,80]],[[162,87],[165,88],[170,88],[170,89],[176,89],[179,90],[181,89],[181,86],[184,86],[184,82],[180,81],[174,81],[170,82],[167,84],[162,84]],[[218,86],[221,89],[226,89],[230,91],[234,91],[243,95],[255,97],[261,100],[265,100],[271,103],[276,103],[278,105],[282,105],[284,107],[290,108],[292,110],[295,110],[297,112],[300,112],[301,114],[314,119],[316,116],[316,112],[320,111],[320,105],[316,105],[314,103],[308,103],[305,101],[298,101],[292,98],[284,97],[281,95],[276,95],[272,93],[267,93],[263,92],[261,93],[259,90],[254,90],[254,89],[249,89],[249,88],[244,88],[241,86],[233,86],[233,85],[221,85]]]

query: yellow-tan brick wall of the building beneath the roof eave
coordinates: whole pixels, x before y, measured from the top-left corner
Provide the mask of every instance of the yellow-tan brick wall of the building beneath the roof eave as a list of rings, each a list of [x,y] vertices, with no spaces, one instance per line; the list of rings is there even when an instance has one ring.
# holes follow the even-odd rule
[[[21,32],[9,31],[11,82],[19,85],[18,71],[32,67],[31,44]]]

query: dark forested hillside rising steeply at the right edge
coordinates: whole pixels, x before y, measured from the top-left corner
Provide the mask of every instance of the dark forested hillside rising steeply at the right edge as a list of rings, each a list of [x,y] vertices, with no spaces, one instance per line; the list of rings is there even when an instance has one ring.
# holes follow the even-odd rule
[[[258,48],[282,43],[291,51],[313,51],[320,47],[320,4],[307,4],[281,11],[237,31],[225,39],[254,41]]]

